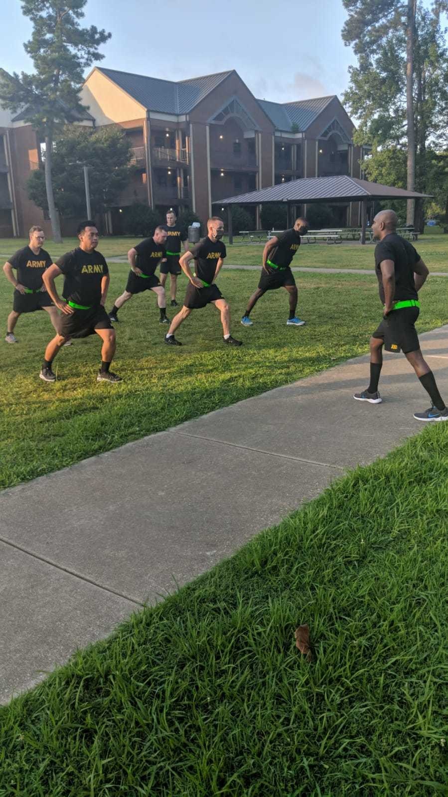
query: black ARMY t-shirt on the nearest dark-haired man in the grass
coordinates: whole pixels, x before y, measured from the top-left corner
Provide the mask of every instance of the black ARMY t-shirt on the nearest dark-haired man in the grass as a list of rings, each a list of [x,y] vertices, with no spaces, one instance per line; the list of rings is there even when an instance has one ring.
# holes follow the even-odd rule
[[[101,280],[109,273],[108,264],[100,252],[73,249],[63,254],[56,265],[64,274],[62,296],[75,304],[100,304]]]

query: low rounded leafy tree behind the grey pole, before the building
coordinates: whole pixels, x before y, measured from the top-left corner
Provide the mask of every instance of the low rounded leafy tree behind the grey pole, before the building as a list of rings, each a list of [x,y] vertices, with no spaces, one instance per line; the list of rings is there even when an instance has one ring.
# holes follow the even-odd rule
[[[52,183],[54,202],[61,216],[84,216],[83,166],[88,167],[92,215],[104,213],[119,198],[133,168],[126,134],[119,128],[65,128],[54,142]],[[48,211],[44,169],[33,171],[28,180],[28,195]]]

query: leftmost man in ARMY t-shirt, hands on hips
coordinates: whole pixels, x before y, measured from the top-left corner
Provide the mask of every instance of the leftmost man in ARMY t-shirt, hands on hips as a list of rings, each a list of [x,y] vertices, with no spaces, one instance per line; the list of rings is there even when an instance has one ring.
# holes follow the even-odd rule
[[[23,249],[18,249],[3,266],[6,279],[14,285],[13,310],[8,316],[5,338],[8,344],[18,343],[14,328],[22,312],[46,310],[55,330],[59,328],[59,313],[42,282],[42,274],[52,264],[49,253],[42,249],[44,241],[44,231],[34,225],[29,230],[29,244]],[[13,269],[16,269],[17,279],[14,277]]]

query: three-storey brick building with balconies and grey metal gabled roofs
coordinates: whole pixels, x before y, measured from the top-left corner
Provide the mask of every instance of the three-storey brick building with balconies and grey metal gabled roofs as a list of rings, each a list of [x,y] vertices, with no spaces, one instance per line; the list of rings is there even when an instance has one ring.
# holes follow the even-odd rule
[[[95,67],[81,102],[89,111],[81,124],[119,125],[132,147],[136,171],[107,214],[111,233],[121,232],[120,210],[132,202],[191,209],[205,220],[227,196],[301,177],[361,176],[354,125],[336,96],[280,104],[257,100],[234,70],[174,82]],[[36,135],[20,116],[1,124],[0,117],[9,155],[2,172],[0,147],[0,224],[24,234],[41,223],[49,232],[26,197],[40,159]],[[335,214],[339,224],[359,223],[357,203],[335,206]]]

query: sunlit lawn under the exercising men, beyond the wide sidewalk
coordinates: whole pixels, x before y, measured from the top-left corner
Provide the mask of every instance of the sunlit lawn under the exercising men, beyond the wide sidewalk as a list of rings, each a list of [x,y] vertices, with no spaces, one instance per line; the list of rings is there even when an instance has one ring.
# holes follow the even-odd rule
[[[123,292],[128,269],[112,264],[111,273],[108,308]],[[62,348],[53,363],[57,383],[42,382],[38,374],[53,328],[45,312],[21,316],[19,343],[0,340],[0,485],[71,465],[367,351],[381,312],[374,277],[297,275],[305,327],[286,327],[288,296],[281,289],[261,298],[253,327],[243,328],[239,322],[257,281],[257,273],[245,271],[223,271],[218,278],[230,300],[232,332],[244,342],[240,348],[223,345],[212,306],[193,312],[179,329],[182,347],[167,347],[155,294],[134,297],[116,324],[112,370],[124,379],[116,385],[96,383],[98,336]],[[58,283],[61,290],[61,278]],[[180,279],[180,302],[185,286]],[[433,277],[423,289],[420,331],[446,324],[447,287],[444,277]],[[10,289],[0,282],[3,324],[10,307]],[[174,312],[168,308],[171,317]],[[424,404],[417,380],[415,393]]]

